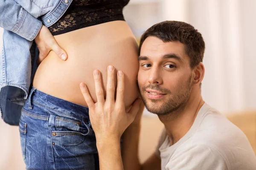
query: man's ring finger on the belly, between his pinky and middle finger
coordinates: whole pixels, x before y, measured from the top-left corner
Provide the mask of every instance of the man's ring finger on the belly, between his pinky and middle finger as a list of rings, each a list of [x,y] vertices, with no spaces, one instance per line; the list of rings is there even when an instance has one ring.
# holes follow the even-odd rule
[[[101,74],[100,74],[99,70],[93,71],[93,77],[94,77],[94,83],[95,83],[95,92],[96,92],[96,97],[97,97],[97,103],[99,105],[103,105],[105,103],[105,99],[104,99],[104,92],[103,92],[103,88],[102,88]]]

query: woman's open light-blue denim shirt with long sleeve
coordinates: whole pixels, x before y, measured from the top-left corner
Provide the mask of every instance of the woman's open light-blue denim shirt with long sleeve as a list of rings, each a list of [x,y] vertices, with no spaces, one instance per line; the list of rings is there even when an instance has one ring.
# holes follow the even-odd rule
[[[21,108],[37,69],[34,39],[42,24],[54,24],[72,0],[0,0],[3,48],[0,58],[0,113],[4,122],[18,125]]]

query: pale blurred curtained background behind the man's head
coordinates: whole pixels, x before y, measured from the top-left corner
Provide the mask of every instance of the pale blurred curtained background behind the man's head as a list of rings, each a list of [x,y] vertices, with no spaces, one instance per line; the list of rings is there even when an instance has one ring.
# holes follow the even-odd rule
[[[255,0],[131,0],[134,34],[164,20],[190,23],[206,43],[204,100],[222,113],[256,108]]]

